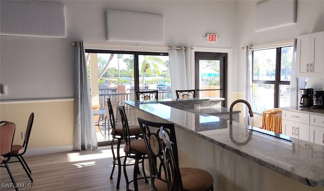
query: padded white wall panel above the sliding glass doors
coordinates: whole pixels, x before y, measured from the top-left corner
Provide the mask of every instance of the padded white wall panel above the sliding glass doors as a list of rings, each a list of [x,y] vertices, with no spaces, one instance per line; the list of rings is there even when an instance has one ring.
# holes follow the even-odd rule
[[[109,41],[163,44],[163,16],[107,10],[106,37]]]

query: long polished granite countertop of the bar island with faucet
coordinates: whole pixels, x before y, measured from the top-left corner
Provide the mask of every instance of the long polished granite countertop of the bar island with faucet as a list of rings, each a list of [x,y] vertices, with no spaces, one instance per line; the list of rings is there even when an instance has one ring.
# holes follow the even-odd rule
[[[285,135],[267,135],[259,132],[259,128],[235,122],[230,125],[228,120],[217,116],[188,112],[157,102],[124,102],[296,181],[324,186],[322,145]],[[188,124],[186,120],[195,120],[195,123]]]

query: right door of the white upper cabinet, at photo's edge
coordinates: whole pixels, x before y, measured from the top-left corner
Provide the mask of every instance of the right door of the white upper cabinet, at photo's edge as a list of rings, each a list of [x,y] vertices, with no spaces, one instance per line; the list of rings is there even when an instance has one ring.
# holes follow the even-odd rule
[[[324,74],[324,31],[311,34],[310,77],[323,77]]]

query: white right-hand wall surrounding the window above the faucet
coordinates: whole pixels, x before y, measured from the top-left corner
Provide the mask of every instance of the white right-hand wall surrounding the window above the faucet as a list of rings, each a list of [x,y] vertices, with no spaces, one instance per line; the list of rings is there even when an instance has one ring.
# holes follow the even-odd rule
[[[238,48],[240,49],[238,49],[237,71],[240,72],[233,76],[237,76],[236,88],[239,92],[244,90],[244,75],[246,73],[241,72],[245,71],[246,65],[246,49],[241,49],[241,47],[292,41],[299,34],[324,30],[324,1],[298,0],[296,24],[255,32],[255,5],[257,3],[258,1],[238,1],[237,5],[237,27],[238,35],[240,36],[238,41]],[[319,85],[324,86],[322,78],[308,79],[308,88]]]

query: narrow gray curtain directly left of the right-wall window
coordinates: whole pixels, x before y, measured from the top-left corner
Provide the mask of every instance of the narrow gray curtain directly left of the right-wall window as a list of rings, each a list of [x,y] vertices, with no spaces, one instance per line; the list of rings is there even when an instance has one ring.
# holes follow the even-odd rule
[[[247,67],[246,67],[246,79],[245,79],[245,85],[244,88],[244,99],[252,104],[252,48],[251,46],[247,46],[247,61],[246,61]],[[253,107],[253,105],[251,105]],[[244,107],[244,123],[246,125],[253,125],[253,118],[250,118],[249,112],[247,110],[247,107]]]

